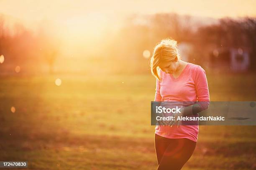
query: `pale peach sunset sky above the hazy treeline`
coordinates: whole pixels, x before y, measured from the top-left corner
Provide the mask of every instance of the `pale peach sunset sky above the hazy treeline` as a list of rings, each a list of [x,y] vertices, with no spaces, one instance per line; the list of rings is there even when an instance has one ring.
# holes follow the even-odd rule
[[[0,13],[26,20],[64,20],[87,13],[176,12],[212,18],[256,16],[255,0],[0,0]]]

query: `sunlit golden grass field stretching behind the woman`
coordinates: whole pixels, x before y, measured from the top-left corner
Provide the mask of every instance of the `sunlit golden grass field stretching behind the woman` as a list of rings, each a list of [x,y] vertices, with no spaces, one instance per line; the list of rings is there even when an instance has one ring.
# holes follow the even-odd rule
[[[207,78],[212,101],[256,100],[255,75]],[[35,170],[155,170],[154,90],[151,75],[1,77],[0,160],[27,160]],[[255,132],[200,126],[183,169],[256,168]]]

